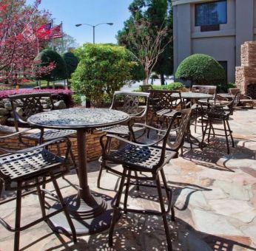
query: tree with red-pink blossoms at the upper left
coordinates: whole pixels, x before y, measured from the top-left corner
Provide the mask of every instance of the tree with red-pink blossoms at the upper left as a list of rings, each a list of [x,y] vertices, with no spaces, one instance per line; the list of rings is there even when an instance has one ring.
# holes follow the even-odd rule
[[[48,13],[38,11],[40,0],[31,6],[25,0],[0,1],[0,71],[7,78],[32,75],[31,65],[40,48],[38,27],[47,21]]]

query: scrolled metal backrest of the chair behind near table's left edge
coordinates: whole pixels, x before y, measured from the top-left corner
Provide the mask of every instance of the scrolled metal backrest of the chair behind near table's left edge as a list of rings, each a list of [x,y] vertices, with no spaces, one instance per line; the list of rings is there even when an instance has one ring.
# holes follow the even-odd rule
[[[54,109],[50,93],[16,94],[10,95],[9,99],[13,108],[16,131],[18,131],[19,123],[25,124],[31,115]],[[49,109],[44,109],[44,102],[48,103]],[[17,107],[21,108],[21,111],[17,112]]]

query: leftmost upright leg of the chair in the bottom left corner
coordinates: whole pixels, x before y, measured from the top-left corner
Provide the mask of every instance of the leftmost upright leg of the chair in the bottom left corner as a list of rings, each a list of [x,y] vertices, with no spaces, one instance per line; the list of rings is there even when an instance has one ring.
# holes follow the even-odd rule
[[[18,190],[16,194],[16,217],[15,217],[15,229],[21,227],[21,183],[18,182]],[[14,251],[19,249],[19,237],[20,231],[16,231],[14,234]]]

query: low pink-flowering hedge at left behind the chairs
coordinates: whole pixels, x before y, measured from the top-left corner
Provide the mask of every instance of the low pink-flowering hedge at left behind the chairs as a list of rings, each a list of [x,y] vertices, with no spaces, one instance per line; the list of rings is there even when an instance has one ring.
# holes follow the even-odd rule
[[[73,92],[69,89],[16,89],[0,91],[0,100],[7,98],[9,95],[15,94],[31,94],[36,92],[47,92],[53,95],[53,98],[56,100],[64,100],[67,107],[73,106],[72,94]]]

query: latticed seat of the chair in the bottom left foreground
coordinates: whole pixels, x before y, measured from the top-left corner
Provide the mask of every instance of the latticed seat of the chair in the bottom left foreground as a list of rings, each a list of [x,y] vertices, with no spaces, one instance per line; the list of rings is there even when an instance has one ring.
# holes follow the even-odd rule
[[[0,172],[7,177],[7,182],[24,181],[41,173],[47,173],[62,165],[64,159],[44,148],[24,154],[5,154],[0,157]]]

